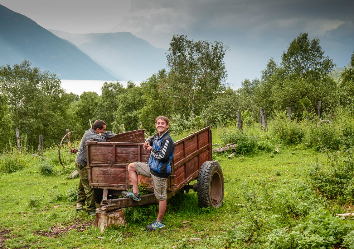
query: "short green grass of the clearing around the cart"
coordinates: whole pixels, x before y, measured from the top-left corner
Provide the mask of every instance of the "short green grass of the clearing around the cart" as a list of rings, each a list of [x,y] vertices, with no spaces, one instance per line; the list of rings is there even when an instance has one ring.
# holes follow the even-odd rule
[[[216,140],[213,143],[219,142],[218,132],[213,132]],[[51,154],[54,152],[45,155]],[[140,223],[128,222],[127,226],[108,228],[104,233],[94,227],[93,217],[84,212],[76,213],[75,202],[65,197],[70,189],[78,186],[78,178],[68,178],[74,169],[63,170],[55,159],[53,175],[44,176],[39,170],[42,161],[29,157],[30,162],[23,170],[0,176],[0,247],[232,248],[234,244],[227,241],[230,231],[235,224],[243,224],[242,220],[248,215],[246,208],[235,205],[245,203],[241,194],[243,186],[259,189],[259,192],[264,186],[281,190],[285,185],[306,183],[308,171],[317,160],[326,164],[324,153],[299,147],[281,147],[279,153],[256,152],[233,159],[227,156],[214,156],[225,179],[221,208],[199,208],[196,193],[190,190],[167,201],[164,229],[144,229],[157,216],[152,213]],[[126,216],[127,212],[132,211],[126,210]],[[351,219],[345,222],[353,227]],[[195,237],[201,240],[190,241]]]

